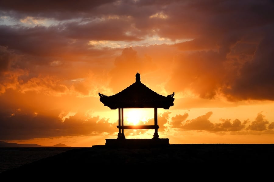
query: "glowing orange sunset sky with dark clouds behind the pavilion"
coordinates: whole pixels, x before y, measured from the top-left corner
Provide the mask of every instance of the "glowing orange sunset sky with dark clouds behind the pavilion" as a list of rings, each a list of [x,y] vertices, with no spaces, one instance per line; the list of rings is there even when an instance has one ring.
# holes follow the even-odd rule
[[[167,96],[170,144],[274,143],[272,0],[0,2],[0,141],[72,147],[117,138],[98,93]],[[154,109],[124,109],[126,124]],[[152,138],[154,130],[125,130]]]

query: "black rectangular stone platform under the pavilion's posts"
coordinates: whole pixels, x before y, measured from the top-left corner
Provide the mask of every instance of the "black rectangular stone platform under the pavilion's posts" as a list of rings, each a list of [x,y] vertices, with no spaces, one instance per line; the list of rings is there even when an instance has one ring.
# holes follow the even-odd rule
[[[111,148],[149,148],[169,145],[168,138],[157,139],[106,139],[106,147]]]

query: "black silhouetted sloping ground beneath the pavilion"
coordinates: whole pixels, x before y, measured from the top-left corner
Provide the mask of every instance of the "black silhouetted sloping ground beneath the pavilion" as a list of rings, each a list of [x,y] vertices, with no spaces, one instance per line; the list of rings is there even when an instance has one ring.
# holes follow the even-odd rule
[[[0,180],[273,180],[274,144],[170,144],[68,150],[0,174]],[[269,178],[270,177],[270,178]],[[6,181],[5,180],[5,181]],[[3,181],[3,180],[2,180]]]

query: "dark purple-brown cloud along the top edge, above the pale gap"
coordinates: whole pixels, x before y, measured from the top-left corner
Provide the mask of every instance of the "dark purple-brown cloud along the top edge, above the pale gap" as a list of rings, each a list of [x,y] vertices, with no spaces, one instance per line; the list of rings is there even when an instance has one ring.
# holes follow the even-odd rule
[[[100,15],[150,15],[157,9],[164,8],[175,1],[128,1],[128,0],[104,0],[104,1],[6,1],[0,2],[0,15],[9,15],[15,19],[27,16],[37,18],[52,18],[67,20],[73,18],[100,17]]]

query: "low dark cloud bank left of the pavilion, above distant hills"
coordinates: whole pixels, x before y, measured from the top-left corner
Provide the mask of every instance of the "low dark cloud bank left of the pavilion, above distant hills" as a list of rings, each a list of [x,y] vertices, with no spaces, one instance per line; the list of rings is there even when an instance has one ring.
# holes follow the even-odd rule
[[[58,117],[36,115],[26,110],[1,110],[0,140],[29,140],[60,136],[92,136],[117,132],[116,123],[99,116],[87,120],[70,116],[62,122]],[[115,126],[114,126],[115,125]]]

